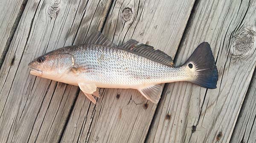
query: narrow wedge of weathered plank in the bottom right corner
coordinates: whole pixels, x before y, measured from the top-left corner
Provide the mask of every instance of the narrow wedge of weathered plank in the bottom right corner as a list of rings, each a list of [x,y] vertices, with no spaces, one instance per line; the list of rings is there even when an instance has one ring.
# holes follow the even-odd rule
[[[230,143],[256,142],[256,73],[250,83],[244,103],[241,107]]]

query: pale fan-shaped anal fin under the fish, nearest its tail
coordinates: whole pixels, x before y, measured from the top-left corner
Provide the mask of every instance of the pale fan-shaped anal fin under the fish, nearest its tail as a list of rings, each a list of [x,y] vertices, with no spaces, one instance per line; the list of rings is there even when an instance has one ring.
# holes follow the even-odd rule
[[[158,103],[162,93],[162,87],[160,84],[151,85],[142,89],[138,89],[140,93],[153,103]]]

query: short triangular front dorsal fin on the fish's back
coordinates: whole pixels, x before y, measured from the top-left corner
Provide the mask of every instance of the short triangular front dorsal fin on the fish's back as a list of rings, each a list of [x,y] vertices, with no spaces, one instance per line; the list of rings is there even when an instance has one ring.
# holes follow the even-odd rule
[[[95,31],[90,37],[87,39],[87,44],[95,44],[95,45],[104,45],[108,47],[117,47],[113,42],[111,42],[106,36],[104,36],[101,32]]]

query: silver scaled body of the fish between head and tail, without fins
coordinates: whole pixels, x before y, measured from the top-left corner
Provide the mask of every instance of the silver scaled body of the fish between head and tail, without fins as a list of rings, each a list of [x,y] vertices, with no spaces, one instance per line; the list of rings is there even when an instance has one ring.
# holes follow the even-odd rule
[[[79,71],[71,69],[55,79],[67,84],[77,85],[76,82],[83,80],[97,87],[137,89],[192,79],[186,67],[169,67],[119,48],[86,44],[61,50],[71,54],[74,67],[79,68]]]

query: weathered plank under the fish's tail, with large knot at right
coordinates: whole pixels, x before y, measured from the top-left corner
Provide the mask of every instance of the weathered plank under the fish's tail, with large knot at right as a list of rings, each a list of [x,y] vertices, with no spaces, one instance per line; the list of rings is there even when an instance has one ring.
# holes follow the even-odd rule
[[[256,65],[256,2],[198,0],[177,64],[199,43],[210,43],[219,71],[217,89],[167,84],[146,143],[228,143]]]

